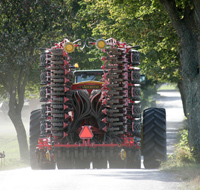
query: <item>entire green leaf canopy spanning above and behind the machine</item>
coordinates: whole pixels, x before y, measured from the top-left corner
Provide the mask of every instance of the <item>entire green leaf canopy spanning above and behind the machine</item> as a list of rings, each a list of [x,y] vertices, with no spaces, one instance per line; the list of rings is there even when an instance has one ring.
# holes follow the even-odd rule
[[[177,2],[182,15],[188,7],[192,10],[190,1]],[[141,69],[148,78],[180,80],[179,40],[158,0],[2,0],[0,8],[0,64],[4,73],[13,65],[17,71],[17,65],[38,63],[39,47],[51,47],[64,37],[73,41],[93,35],[140,45]],[[100,67],[101,61],[96,59],[99,52],[88,51],[77,50],[73,62],[81,68]]]

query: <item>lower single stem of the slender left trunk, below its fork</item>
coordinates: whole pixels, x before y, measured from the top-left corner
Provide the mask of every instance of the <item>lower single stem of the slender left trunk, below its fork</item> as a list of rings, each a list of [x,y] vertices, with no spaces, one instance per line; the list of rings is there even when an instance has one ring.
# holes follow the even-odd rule
[[[15,127],[17,132],[17,140],[19,143],[19,150],[20,150],[20,158],[22,160],[28,160],[29,151],[28,151],[28,143],[27,143],[27,136],[26,131],[21,119],[21,113],[16,113],[14,108],[10,109],[8,115]]]

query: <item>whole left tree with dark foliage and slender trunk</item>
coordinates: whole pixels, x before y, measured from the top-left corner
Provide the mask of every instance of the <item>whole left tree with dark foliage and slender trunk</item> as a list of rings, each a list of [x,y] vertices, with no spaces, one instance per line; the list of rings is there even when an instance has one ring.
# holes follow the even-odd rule
[[[59,0],[0,2],[0,86],[1,92],[9,94],[8,115],[17,132],[21,159],[29,155],[21,111],[30,74],[34,79],[38,66],[38,48],[51,47],[54,40],[63,39],[68,29],[69,36],[72,34],[68,22],[72,3]],[[39,78],[38,72],[35,78]]]

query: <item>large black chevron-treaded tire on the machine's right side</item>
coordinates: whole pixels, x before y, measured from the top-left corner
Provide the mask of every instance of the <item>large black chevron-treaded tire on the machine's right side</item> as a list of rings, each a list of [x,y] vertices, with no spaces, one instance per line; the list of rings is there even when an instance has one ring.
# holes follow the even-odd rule
[[[166,160],[166,113],[163,108],[148,108],[143,112],[144,166],[158,168]]]

